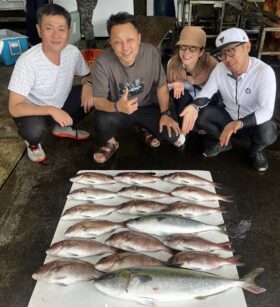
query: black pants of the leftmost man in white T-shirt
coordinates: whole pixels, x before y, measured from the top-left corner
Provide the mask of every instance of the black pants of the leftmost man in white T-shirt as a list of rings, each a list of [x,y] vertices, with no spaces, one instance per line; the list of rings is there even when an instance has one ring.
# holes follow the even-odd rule
[[[73,86],[62,108],[73,119],[74,124],[82,120],[87,114],[81,107],[82,86]],[[23,116],[14,118],[19,135],[31,145],[41,142],[48,126],[55,122],[51,116]]]

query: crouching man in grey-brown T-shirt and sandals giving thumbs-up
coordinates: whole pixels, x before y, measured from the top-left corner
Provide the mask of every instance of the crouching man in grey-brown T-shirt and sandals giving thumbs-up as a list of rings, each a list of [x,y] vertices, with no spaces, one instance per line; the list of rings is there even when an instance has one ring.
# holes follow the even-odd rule
[[[123,12],[107,21],[111,48],[94,62],[92,71],[95,128],[103,145],[94,153],[104,163],[119,148],[119,127],[139,127],[146,144],[167,140],[178,148],[180,128],[169,109],[166,76],[157,48],[141,43],[135,17]]]

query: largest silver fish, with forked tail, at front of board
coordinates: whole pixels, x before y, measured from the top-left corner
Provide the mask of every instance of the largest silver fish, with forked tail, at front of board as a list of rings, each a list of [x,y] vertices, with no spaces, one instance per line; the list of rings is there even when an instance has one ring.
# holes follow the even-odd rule
[[[94,286],[109,296],[152,305],[207,298],[235,287],[262,293],[266,290],[254,280],[263,271],[255,269],[238,280],[181,268],[128,268],[104,274],[94,281]]]

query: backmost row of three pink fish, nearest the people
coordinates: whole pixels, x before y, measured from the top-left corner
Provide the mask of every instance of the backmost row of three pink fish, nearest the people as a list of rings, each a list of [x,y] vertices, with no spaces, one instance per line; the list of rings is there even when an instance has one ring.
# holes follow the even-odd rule
[[[70,178],[71,182],[85,185],[102,185],[112,184],[116,182],[125,183],[129,185],[141,185],[146,183],[154,183],[160,180],[174,184],[220,187],[220,184],[187,172],[172,172],[164,176],[156,176],[155,173],[140,172],[122,172],[115,176],[97,172],[84,172],[76,175],[75,177]]]

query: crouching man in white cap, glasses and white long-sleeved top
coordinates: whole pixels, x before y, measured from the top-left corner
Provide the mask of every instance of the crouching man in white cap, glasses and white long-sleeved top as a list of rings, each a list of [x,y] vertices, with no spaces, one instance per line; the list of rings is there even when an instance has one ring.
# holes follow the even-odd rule
[[[277,139],[276,123],[271,120],[276,96],[274,71],[261,60],[249,56],[251,44],[242,29],[221,32],[216,46],[221,62],[193,104],[181,113],[183,132],[190,132],[196,123],[198,129],[208,133],[203,152],[207,158],[230,150],[232,134],[245,133],[251,141],[249,157],[253,166],[265,171],[268,162],[263,149]],[[224,107],[207,106],[218,90]]]

